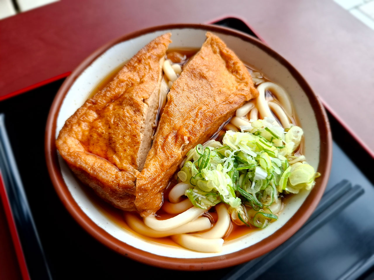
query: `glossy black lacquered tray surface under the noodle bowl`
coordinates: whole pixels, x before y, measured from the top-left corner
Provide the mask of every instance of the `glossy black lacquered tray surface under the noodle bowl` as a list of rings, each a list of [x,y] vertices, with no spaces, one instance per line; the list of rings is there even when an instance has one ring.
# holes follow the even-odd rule
[[[217,24],[254,33],[239,19]],[[44,134],[59,80],[0,103],[44,260],[25,252],[31,279],[373,279],[374,187],[373,159],[330,115],[332,170],[326,193],[316,212],[294,236],[272,252],[247,264],[214,271],[181,272],[147,266],[101,245],[68,214],[50,182],[44,156]],[[335,138],[335,136],[338,136]],[[358,155],[360,158],[358,158]],[[22,217],[21,217],[22,218]],[[31,224],[32,225],[32,224]],[[22,227],[26,233],[31,228]],[[24,234],[27,236],[27,234]],[[27,238],[21,237],[27,251]],[[32,246],[28,246],[33,248]],[[38,273],[39,271],[39,273]],[[131,276],[130,276],[131,275]]]

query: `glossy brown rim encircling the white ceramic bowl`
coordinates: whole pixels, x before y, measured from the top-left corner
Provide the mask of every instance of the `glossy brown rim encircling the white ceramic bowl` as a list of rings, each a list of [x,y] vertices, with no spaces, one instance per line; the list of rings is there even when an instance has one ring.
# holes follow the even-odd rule
[[[79,75],[83,72],[83,70],[87,66],[89,66],[93,62],[93,60],[95,60],[98,56],[100,56],[114,44],[150,32],[175,28],[203,29],[207,31],[233,35],[239,37],[244,41],[248,41],[257,47],[260,47],[270,56],[278,60],[279,63],[285,66],[291,73],[291,75],[295,78],[295,80],[298,81],[300,87],[303,88],[304,92],[307,94],[309,98],[310,105],[312,106],[313,111],[315,113],[318,129],[320,132],[321,146],[319,165],[317,171],[320,172],[322,175],[321,177],[316,179],[315,187],[309,193],[306,200],[303,202],[303,204],[300,206],[297,212],[287,221],[285,225],[279,228],[272,235],[266,237],[265,239],[261,240],[260,242],[252,246],[249,246],[248,248],[226,255],[212,256],[207,258],[171,258],[166,256],[154,255],[153,253],[142,251],[116,239],[115,237],[107,233],[104,229],[96,225],[82,211],[77,202],[73,199],[73,196],[71,196],[64,182],[64,179],[62,178],[61,170],[57,159],[57,152],[55,146],[55,131],[58,112],[67,91],[74,83],[76,78],[79,77]],[[124,35],[120,38],[117,38],[116,40],[113,40],[97,49],[85,60],[83,60],[83,62],[80,63],[80,65],[77,66],[77,68],[74,69],[73,72],[71,72],[70,76],[61,85],[50,108],[46,124],[45,155],[50,178],[62,203],[70,212],[70,214],[74,217],[74,219],[99,242],[105,244],[114,251],[121,253],[122,255],[125,255],[144,264],[153,265],[156,267],[169,268],[175,270],[212,270],[237,265],[249,261],[251,259],[257,258],[273,250],[274,248],[285,242],[289,237],[291,237],[292,234],[294,234],[306,222],[306,220],[310,217],[310,215],[318,205],[319,200],[321,199],[327,185],[331,169],[332,138],[327,114],[318,97],[313,93],[312,89],[301,76],[301,74],[286,59],[284,59],[274,50],[270,49],[270,47],[266,46],[261,41],[257,40],[256,38],[248,34],[226,27],[218,27],[206,24],[168,24],[141,29],[139,31],[135,31],[130,34]]]

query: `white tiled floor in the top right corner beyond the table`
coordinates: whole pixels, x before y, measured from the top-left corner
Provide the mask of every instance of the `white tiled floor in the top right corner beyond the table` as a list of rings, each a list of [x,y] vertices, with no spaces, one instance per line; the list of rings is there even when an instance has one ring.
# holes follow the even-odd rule
[[[374,29],[374,0],[334,0],[341,7]]]

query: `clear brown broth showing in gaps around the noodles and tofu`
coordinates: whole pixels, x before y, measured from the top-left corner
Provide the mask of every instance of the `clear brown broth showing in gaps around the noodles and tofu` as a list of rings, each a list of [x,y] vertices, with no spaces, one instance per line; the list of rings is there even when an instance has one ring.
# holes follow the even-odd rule
[[[191,59],[191,57],[193,57],[196,54],[197,51],[198,51],[198,49],[170,49],[166,53],[166,57],[168,58],[168,56],[171,53],[173,53],[173,52],[180,53],[184,57],[184,59],[181,60],[180,62],[177,62],[177,64],[180,64],[182,66],[182,69],[183,69],[183,66],[186,66],[186,64],[188,63],[188,61]],[[102,81],[100,81],[95,86],[95,88],[91,91],[91,93],[89,95],[89,98],[91,98],[93,95],[95,95],[96,93],[98,93],[111,80],[113,80],[114,76],[117,74],[117,72],[120,71],[120,69],[123,67],[124,64],[125,63],[119,65],[116,69],[114,69],[113,71],[111,71],[107,75],[107,77],[105,77]],[[254,71],[254,69],[252,67],[250,67],[248,65],[246,65],[246,67],[247,67],[247,69],[248,69],[248,71],[250,73],[252,71]],[[266,81],[270,81],[266,77],[264,77],[264,79]],[[273,97],[273,101],[279,103],[275,96],[272,96],[272,97]],[[159,109],[158,115],[159,114],[160,114],[160,109]],[[157,115],[157,120],[159,119],[158,115]],[[289,118],[291,119],[291,122],[293,124],[295,124],[295,125],[298,125],[300,123],[299,120],[298,120],[298,118],[297,118],[297,115],[295,113],[293,113],[292,116],[289,116]],[[215,139],[215,140],[218,140],[218,141],[222,140],[221,138],[222,138],[222,136],[224,134],[223,127],[228,122],[230,122],[230,119],[227,120],[227,122],[225,122],[223,125],[221,125],[220,129],[212,136],[211,139]],[[303,147],[304,147],[304,138],[302,139],[302,141],[300,143],[300,146],[299,146],[297,152],[295,152],[295,154],[302,154]],[[169,186],[165,189],[165,191],[163,193],[163,201],[164,200],[168,200],[168,194],[169,194],[170,190],[172,189],[172,187],[176,183],[177,182],[176,182],[176,180],[173,177],[173,179],[169,183]],[[147,240],[148,242],[161,243],[163,245],[176,246],[176,247],[182,248],[180,245],[178,245],[177,243],[175,243],[169,237],[162,237],[162,238],[146,237],[146,236],[143,236],[143,235],[135,232],[134,230],[132,230],[126,224],[126,222],[124,220],[124,217],[123,217],[123,212],[124,211],[111,206],[109,203],[104,202],[102,199],[100,199],[98,196],[96,196],[95,193],[93,192],[93,190],[90,189],[89,187],[84,186],[83,184],[81,184],[81,186],[82,186],[82,189],[84,190],[84,192],[86,193],[86,195],[89,197],[89,199],[92,200],[92,202],[96,206],[96,208],[100,212],[102,212],[109,220],[113,221],[113,223],[115,223],[119,227],[121,227],[124,230],[128,231],[129,233],[131,233],[131,234],[139,237],[140,239]],[[292,194],[282,195],[282,202],[283,202],[283,204],[286,203],[287,200],[289,200],[289,198],[291,196],[292,196]],[[136,214],[136,215],[138,215],[138,214]],[[159,220],[165,220],[165,219],[168,219],[168,218],[172,218],[172,217],[175,217],[176,215],[177,214],[166,213],[163,210],[162,207],[156,212],[156,218],[159,219]],[[211,220],[212,225],[214,225],[215,222],[217,221],[217,213],[215,212],[214,208],[213,208],[212,211],[209,211],[209,212],[207,211],[203,216],[208,217]],[[140,217],[140,216],[138,215],[138,217]],[[231,242],[231,241],[233,241],[235,239],[238,239],[238,238],[241,238],[241,237],[243,237],[243,236],[245,236],[247,234],[251,234],[251,233],[253,233],[254,231],[257,231],[257,230],[261,230],[261,229],[255,228],[253,226],[247,227],[246,225],[236,225],[235,223],[232,223],[232,225],[230,226],[229,230],[226,233],[226,236],[224,236],[225,243],[226,242]]]

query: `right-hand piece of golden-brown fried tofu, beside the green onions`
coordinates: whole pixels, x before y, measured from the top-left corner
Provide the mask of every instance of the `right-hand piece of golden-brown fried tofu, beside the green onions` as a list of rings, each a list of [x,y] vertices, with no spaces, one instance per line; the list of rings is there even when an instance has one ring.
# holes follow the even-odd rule
[[[135,205],[156,212],[184,156],[209,140],[244,102],[258,96],[245,65],[208,32],[199,52],[173,83],[144,169],[137,175]]]

